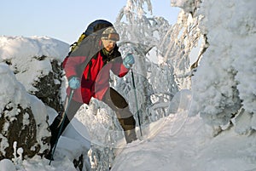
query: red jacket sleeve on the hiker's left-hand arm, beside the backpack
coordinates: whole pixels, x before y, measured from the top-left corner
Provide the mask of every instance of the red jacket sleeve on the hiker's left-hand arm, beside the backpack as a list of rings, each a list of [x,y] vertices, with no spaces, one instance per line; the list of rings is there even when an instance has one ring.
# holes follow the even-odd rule
[[[63,68],[66,72],[66,77],[69,80],[71,77],[81,77],[79,73],[79,66],[84,63],[85,56],[68,57],[63,61]]]

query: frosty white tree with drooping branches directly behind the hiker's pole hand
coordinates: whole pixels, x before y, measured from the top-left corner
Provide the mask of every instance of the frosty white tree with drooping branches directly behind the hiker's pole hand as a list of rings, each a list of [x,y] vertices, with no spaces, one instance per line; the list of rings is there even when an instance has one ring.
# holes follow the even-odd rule
[[[147,9],[145,8],[146,6],[148,7]],[[155,109],[153,105],[172,100],[172,95],[178,89],[173,78],[172,67],[160,67],[158,61],[153,62],[150,59],[150,54],[154,51],[158,53],[160,41],[165,36],[164,34],[170,28],[170,25],[162,17],[148,17],[148,14],[152,14],[150,1],[128,0],[126,6],[120,10],[115,22],[121,37],[119,46],[122,53],[124,55],[131,53],[136,57],[136,65],[133,71],[135,72],[137,94],[140,97],[138,103],[142,123],[150,123],[160,118],[155,115],[157,111],[154,110],[153,112],[151,110]],[[167,73],[168,75],[164,75]],[[159,77],[167,80],[167,83],[161,85],[159,81],[156,81]],[[125,88],[125,94],[131,91],[131,82],[131,77],[126,77],[126,85],[121,86]],[[159,98],[160,94],[166,97]],[[134,98],[133,95],[127,98],[129,101],[134,101],[131,99]],[[136,104],[131,104],[131,106],[132,109],[136,109]],[[137,113],[137,109],[133,111]],[[165,109],[163,111],[164,113],[166,112]],[[162,112],[159,114],[162,115]]]

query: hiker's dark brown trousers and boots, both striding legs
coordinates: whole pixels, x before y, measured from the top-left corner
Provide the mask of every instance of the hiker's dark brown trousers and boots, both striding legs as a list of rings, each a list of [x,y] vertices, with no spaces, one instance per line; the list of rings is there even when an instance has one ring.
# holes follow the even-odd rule
[[[131,111],[129,110],[129,105],[125,98],[113,88],[108,88],[106,94],[103,96],[102,101],[106,103],[111,109],[113,109],[113,111],[115,111],[119,123],[125,131],[125,140],[127,143],[131,142],[132,140],[137,140],[137,136],[135,134],[136,122]],[[54,147],[58,136],[63,133],[65,128],[67,128],[68,123],[70,123],[70,121],[73,119],[76,112],[79,111],[81,105],[83,105],[83,103],[71,100],[70,105],[66,111],[66,115],[62,114],[55,117],[54,122],[49,126],[49,129],[51,130],[51,149]],[[61,128],[62,121],[64,121],[64,123]]]

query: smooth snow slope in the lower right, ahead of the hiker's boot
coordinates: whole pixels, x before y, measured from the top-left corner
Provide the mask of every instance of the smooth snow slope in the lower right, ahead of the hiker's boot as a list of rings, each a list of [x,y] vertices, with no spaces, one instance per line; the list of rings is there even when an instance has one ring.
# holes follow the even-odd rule
[[[159,134],[143,143],[134,142],[126,146],[111,170],[256,170],[255,134],[239,136],[232,128],[212,137],[212,128],[205,125],[200,117],[188,117],[188,111],[163,119],[165,126]],[[154,128],[162,127],[163,121],[154,124]]]

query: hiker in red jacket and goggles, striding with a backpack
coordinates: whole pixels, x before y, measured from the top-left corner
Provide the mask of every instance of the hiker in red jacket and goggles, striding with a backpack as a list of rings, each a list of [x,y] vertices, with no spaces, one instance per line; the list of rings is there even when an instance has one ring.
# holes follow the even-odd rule
[[[70,97],[73,91],[73,98],[66,111],[67,118],[55,117],[49,127],[52,134],[50,153],[58,139],[62,120],[64,124],[60,133],[67,127],[79,107],[84,103],[89,104],[92,97],[102,100],[115,111],[124,129],[127,143],[137,140],[136,122],[128,103],[121,94],[109,87],[110,71],[119,77],[124,77],[134,64],[133,56],[128,54],[124,60],[121,58],[116,45],[119,34],[106,20],[96,20],[91,23],[85,31],[85,36],[87,37],[79,44],[79,48],[73,50],[63,61],[68,80],[67,96]]]

